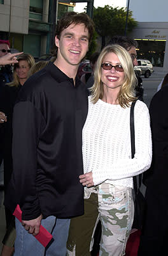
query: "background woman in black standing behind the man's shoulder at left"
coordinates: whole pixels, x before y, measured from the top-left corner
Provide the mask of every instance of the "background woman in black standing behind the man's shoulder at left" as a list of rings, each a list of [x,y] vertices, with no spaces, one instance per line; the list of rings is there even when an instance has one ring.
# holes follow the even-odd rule
[[[24,85],[28,77],[28,72],[35,61],[31,54],[23,53],[17,58],[18,63],[13,66],[13,81],[7,83],[0,93],[0,110],[1,115],[1,151],[4,159],[4,198],[6,197],[8,183],[13,172],[13,161],[11,156],[12,141],[12,120],[13,107],[17,100],[18,92]],[[19,132],[19,131],[18,131]],[[3,238],[3,249],[1,256],[10,256],[14,251],[15,243],[15,218],[5,207],[6,215],[6,234]]]

